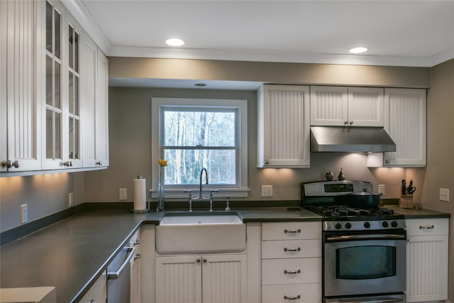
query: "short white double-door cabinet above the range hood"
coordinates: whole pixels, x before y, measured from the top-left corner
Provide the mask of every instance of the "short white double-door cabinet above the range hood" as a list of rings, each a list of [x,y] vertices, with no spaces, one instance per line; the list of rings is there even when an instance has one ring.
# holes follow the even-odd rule
[[[384,89],[311,86],[311,125],[384,126]]]

